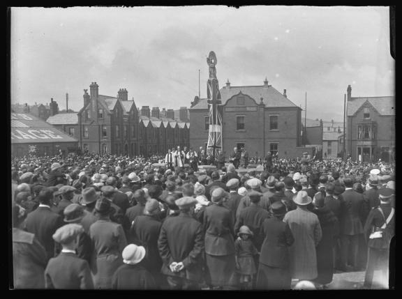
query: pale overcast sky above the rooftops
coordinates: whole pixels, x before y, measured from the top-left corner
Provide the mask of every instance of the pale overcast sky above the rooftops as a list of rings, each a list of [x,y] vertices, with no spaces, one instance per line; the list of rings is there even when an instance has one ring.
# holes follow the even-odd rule
[[[137,107],[190,107],[207,94],[209,51],[220,86],[262,85],[304,107],[307,117],[343,120],[343,95],[394,95],[389,8],[187,6],[12,8],[12,102],[78,111],[83,89],[125,88]],[[304,114],[302,114],[304,116]]]

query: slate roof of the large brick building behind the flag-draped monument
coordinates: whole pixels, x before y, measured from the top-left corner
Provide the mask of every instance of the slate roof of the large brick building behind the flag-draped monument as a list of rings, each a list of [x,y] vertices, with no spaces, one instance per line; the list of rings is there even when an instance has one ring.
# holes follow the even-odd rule
[[[230,86],[230,88],[223,87],[221,90],[222,105],[232,98],[232,96],[239,94],[248,95],[255,100],[257,104],[260,103],[260,98],[263,98],[265,107],[297,107],[292,101],[283,96],[282,93],[274,89],[272,86]],[[206,99],[200,99],[197,105],[191,109],[207,109],[208,103]]]

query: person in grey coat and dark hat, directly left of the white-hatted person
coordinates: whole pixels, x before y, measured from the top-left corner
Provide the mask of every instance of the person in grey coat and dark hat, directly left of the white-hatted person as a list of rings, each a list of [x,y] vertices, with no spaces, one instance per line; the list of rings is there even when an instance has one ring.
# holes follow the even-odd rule
[[[95,289],[111,289],[112,276],[121,266],[121,252],[127,245],[126,235],[120,224],[110,220],[111,201],[101,197],[96,201],[98,221],[89,228],[89,236],[94,244],[94,274]]]

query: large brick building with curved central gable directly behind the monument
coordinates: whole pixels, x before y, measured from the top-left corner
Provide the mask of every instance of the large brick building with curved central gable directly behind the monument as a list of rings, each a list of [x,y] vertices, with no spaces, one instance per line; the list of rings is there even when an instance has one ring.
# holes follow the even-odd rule
[[[301,108],[268,84],[230,86],[221,90],[223,105],[223,151],[228,159],[233,148],[246,146],[251,156],[267,151],[279,158],[296,158],[301,148]],[[209,116],[207,99],[195,97],[190,108],[190,145],[206,148]],[[307,150],[309,151],[309,149]]]

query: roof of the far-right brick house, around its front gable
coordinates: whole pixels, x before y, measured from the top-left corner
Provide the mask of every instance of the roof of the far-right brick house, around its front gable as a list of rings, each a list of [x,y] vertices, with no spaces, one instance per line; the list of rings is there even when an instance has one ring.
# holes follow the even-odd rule
[[[369,102],[380,115],[395,115],[395,97],[366,97],[366,98],[351,98],[348,100],[348,116],[353,116],[357,110]]]

